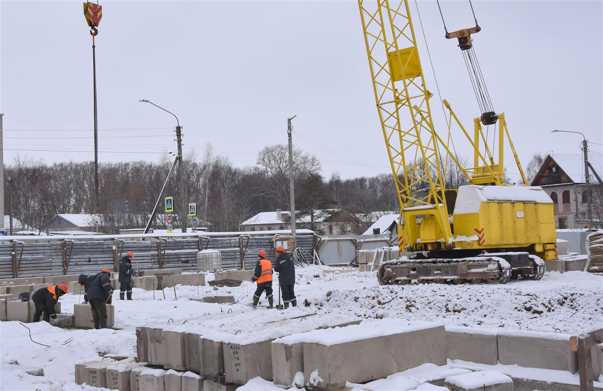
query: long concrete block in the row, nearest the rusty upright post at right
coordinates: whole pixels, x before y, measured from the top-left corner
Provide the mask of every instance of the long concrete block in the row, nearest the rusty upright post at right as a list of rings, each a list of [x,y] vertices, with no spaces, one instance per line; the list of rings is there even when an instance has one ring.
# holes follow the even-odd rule
[[[498,361],[527,368],[578,371],[578,354],[570,351],[570,334],[538,331],[500,331]]]

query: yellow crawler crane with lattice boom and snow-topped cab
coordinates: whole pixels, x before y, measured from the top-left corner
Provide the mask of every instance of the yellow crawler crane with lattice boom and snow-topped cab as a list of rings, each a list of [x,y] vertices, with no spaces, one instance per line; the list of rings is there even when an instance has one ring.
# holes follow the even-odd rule
[[[447,140],[435,131],[428,91],[408,1],[358,1],[379,119],[400,202],[398,244],[411,259],[380,264],[381,284],[506,283],[510,278],[540,279],[543,260],[557,258],[553,204],[540,187],[529,187],[504,114],[488,111],[474,120],[470,135],[447,101],[449,124],[459,125],[474,150],[473,167],[463,167]],[[470,33],[447,33],[471,48]],[[470,56],[471,54],[467,54]],[[472,61],[471,58],[469,61]],[[488,97],[489,99],[489,97]],[[481,106],[482,108],[482,106]],[[497,124],[497,162],[482,124]],[[522,186],[504,181],[505,138],[513,151]],[[481,152],[483,143],[484,152]],[[445,189],[440,150],[470,185]],[[493,148],[494,150],[494,148]]]

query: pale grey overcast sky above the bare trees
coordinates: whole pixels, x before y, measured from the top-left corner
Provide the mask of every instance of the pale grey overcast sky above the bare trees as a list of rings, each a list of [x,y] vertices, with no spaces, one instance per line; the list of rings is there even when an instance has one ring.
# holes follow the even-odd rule
[[[316,155],[323,175],[390,173],[355,1],[101,1],[96,37],[99,160],[159,161],[210,142],[235,166],[265,145]],[[435,1],[411,2],[436,130],[444,134],[420,11],[442,98],[466,127],[479,116],[456,40],[444,39]],[[473,1],[473,36],[494,108],[505,113],[523,164],[534,152],[603,160],[601,1]],[[449,31],[472,27],[468,1],[443,1]],[[0,113],[4,161],[93,159],[92,48],[81,1],[0,2]],[[42,131],[40,131],[42,130]],[[456,144],[466,157],[472,151]],[[45,151],[42,151],[45,150]],[[72,151],[72,152],[66,152]],[[74,152],[84,151],[84,152]],[[517,169],[510,166],[508,172]]]

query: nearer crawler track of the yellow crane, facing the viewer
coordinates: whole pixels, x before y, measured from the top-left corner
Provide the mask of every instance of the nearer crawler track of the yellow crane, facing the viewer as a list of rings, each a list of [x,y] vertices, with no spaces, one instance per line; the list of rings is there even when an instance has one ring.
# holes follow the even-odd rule
[[[511,265],[500,257],[431,258],[386,261],[377,269],[381,285],[418,283],[452,283],[470,281],[505,284],[511,278]]]

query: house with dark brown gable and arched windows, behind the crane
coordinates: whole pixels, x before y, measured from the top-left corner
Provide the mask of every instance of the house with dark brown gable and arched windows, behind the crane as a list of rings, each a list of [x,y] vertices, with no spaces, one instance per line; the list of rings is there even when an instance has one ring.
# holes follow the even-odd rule
[[[589,161],[599,177],[603,170],[601,157],[592,152]],[[593,228],[603,228],[600,216],[603,186],[590,174]],[[559,230],[587,228],[587,192],[584,183],[584,157],[581,154],[547,155],[531,186],[540,186],[551,197],[555,210],[555,227]]]

